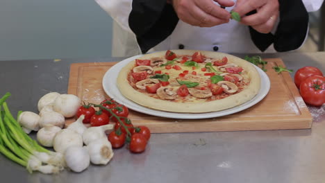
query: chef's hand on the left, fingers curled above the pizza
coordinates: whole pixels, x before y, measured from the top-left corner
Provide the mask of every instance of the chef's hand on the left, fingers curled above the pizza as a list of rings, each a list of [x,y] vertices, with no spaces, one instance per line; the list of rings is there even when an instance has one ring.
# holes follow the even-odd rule
[[[225,7],[235,4],[231,0],[214,1]],[[173,0],[172,4],[178,18],[192,26],[217,26],[227,23],[231,17],[228,11],[220,8],[212,0]]]

